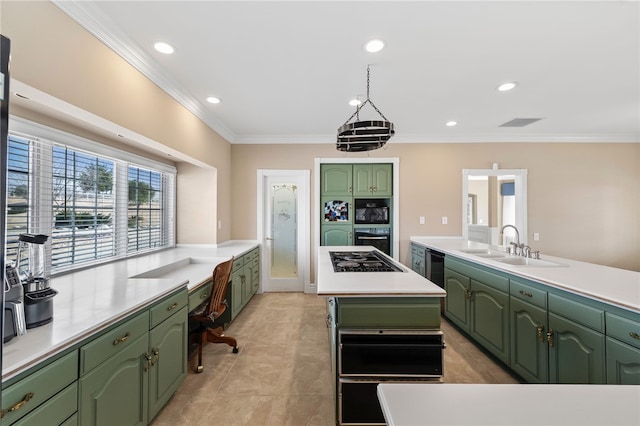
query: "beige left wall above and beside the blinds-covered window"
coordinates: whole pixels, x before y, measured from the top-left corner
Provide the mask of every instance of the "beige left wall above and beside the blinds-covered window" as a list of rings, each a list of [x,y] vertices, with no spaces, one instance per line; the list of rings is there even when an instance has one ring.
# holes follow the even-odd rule
[[[177,218],[178,242],[231,238],[231,149],[224,138],[49,1],[3,1],[0,8],[0,31],[11,39],[12,79],[216,168],[213,193],[200,193],[202,176],[189,173],[179,188],[187,192],[177,196],[217,197],[214,213],[222,228],[204,229],[216,220],[204,221],[200,233],[194,233],[193,222],[182,215]],[[35,120],[30,111],[10,112]],[[207,241],[202,241],[204,235]]]

